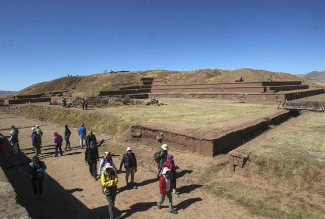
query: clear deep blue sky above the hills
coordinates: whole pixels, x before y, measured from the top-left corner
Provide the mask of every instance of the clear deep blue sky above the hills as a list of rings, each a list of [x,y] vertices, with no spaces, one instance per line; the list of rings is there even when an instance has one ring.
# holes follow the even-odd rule
[[[325,1],[0,0],[0,90],[203,68],[325,70]]]

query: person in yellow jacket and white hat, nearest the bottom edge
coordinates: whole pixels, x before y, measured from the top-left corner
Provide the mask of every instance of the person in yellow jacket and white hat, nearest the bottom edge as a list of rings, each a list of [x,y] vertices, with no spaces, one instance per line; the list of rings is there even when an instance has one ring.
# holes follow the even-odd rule
[[[106,163],[101,176],[101,184],[104,187],[104,193],[108,201],[108,212],[111,219],[114,218],[113,207],[115,205],[117,183],[117,172],[114,170],[114,167],[110,163]]]

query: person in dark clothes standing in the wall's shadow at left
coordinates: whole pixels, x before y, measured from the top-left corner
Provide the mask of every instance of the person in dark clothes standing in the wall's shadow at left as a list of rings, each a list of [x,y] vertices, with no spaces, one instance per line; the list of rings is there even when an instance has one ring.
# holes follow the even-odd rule
[[[32,189],[34,191],[34,198],[39,197],[43,198],[43,180],[45,177],[46,165],[43,161],[40,161],[38,156],[32,158],[32,162],[28,165],[28,172],[30,174],[30,180],[32,184]]]

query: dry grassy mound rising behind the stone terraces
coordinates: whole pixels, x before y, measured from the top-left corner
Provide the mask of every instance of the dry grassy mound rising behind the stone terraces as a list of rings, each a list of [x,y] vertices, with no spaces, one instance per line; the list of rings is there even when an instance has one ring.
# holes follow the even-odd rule
[[[100,91],[114,90],[123,86],[139,85],[142,77],[164,77],[166,83],[220,83],[234,82],[243,76],[244,82],[251,81],[297,81],[312,85],[309,80],[293,74],[243,68],[237,70],[202,69],[193,71],[148,70],[135,72],[100,73],[88,76],[61,77],[26,87],[18,95],[40,94],[69,90],[73,97],[95,96]]]

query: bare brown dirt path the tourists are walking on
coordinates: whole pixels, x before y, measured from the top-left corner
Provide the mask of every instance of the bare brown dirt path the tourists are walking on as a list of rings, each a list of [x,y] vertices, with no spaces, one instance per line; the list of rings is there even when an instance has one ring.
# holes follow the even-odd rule
[[[19,143],[24,154],[11,157],[12,161],[32,157],[30,142],[30,127],[39,124],[43,130],[42,160],[47,165],[48,179],[44,182],[44,198],[34,199],[31,184],[26,170],[26,163],[6,170],[9,181],[15,188],[19,201],[26,207],[32,218],[108,218],[107,200],[102,194],[100,181],[94,181],[84,162],[84,150],[79,149],[79,137],[76,129],[71,129],[72,146],[75,150],[64,152],[64,156],[53,157],[53,132],[63,134],[64,127],[47,124],[0,113],[0,132],[9,135],[11,125],[19,128]],[[89,128],[89,127],[88,127]],[[98,139],[104,139],[103,147],[110,147],[110,136],[96,134]],[[125,186],[124,173],[120,173],[118,194],[115,202],[114,216],[116,218],[256,218],[243,208],[236,206],[229,200],[217,199],[202,189],[204,182],[200,176],[204,167],[215,162],[198,154],[191,154],[171,149],[175,162],[181,167],[178,175],[178,191],[180,197],[173,197],[173,205],[179,214],[168,212],[168,203],[158,210],[156,202],[159,197],[159,186],[155,178],[156,166],[150,160],[152,147],[141,143],[120,143],[121,147],[132,145],[138,158],[138,172],[136,182],[138,189]],[[113,157],[118,166],[121,155]],[[99,163],[98,163],[99,164]]]

